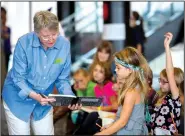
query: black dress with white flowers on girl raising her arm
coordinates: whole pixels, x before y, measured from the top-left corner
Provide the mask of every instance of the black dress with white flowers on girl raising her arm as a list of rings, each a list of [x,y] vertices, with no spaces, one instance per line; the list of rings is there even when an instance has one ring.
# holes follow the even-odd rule
[[[176,132],[175,126],[172,121],[171,113],[173,115],[173,120],[176,124],[176,128],[180,126],[180,111],[181,102],[180,97],[177,99],[172,98],[172,94],[169,93],[162,101],[160,106],[154,106],[153,112],[151,114],[151,128],[152,134],[156,127],[169,130],[171,135]]]

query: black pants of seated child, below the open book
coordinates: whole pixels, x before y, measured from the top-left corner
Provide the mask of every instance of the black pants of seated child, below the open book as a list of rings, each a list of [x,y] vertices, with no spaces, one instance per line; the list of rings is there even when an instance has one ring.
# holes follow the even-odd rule
[[[74,135],[93,135],[100,132],[100,128],[96,125],[96,123],[102,126],[102,120],[98,117],[98,112],[89,113]]]

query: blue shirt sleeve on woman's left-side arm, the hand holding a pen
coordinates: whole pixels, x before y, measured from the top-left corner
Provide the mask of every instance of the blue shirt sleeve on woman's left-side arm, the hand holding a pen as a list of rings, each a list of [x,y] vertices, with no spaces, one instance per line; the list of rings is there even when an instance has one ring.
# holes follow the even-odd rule
[[[26,99],[32,89],[28,86],[26,75],[28,72],[26,52],[22,48],[20,41],[17,42],[14,57],[11,77],[15,86],[20,88],[18,93],[21,99]]]

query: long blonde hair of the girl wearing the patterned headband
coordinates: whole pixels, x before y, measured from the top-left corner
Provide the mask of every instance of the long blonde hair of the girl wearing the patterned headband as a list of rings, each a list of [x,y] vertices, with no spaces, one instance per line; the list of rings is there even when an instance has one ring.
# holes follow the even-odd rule
[[[141,92],[146,97],[148,91],[148,83],[145,77],[147,77],[150,68],[143,55],[139,53],[135,48],[127,47],[124,50],[116,53],[115,57],[127,64],[136,66],[141,69],[133,70],[132,73],[124,81],[123,87],[119,91],[118,104],[122,105],[127,91],[129,89],[136,88],[137,85],[139,85]]]

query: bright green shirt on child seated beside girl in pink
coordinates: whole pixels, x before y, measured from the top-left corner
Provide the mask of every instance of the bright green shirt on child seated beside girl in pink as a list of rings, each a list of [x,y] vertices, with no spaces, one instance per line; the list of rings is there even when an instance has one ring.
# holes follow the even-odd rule
[[[84,90],[84,91],[77,90],[77,96],[95,97],[95,94],[94,94],[94,87],[95,86],[96,86],[96,83],[89,81],[86,90]]]

